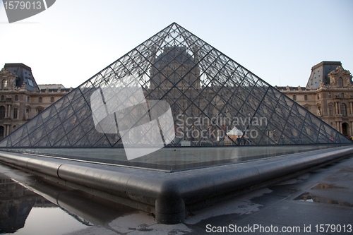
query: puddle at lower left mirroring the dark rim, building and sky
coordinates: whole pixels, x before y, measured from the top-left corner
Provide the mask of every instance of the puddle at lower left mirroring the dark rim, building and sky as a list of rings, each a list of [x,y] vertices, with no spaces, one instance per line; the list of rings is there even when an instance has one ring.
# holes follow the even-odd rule
[[[96,203],[79,191],[20,180],[0,173],[0,234],[66,234],[91,225],[109,229],[109,222],[136,211]]]

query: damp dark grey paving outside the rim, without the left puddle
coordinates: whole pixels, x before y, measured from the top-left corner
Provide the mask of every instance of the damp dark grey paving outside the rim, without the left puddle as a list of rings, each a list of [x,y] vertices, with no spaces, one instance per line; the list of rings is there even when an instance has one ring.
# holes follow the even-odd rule
[[[0,172],[23,186],[42,183],[2,164]],[[132,209],[116,217],[98,210],[90,226],[59,234],[353,234],[353,157],[189,213],[181,224],[157,224]]]

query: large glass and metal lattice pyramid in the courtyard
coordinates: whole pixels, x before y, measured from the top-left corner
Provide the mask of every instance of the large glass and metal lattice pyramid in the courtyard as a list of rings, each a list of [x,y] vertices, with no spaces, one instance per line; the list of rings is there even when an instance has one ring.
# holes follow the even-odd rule
[[[1,147],[352,143],[172,23],[0,142]],[[126,155],[128,153],[126,152]]]

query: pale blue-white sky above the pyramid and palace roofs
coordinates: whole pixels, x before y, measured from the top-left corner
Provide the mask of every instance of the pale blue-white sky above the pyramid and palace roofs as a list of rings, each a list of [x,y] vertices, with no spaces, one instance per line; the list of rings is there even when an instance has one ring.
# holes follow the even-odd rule
[[[0,1],[0,67],[30,66],[38,84],[76,88],[173,22],[271,85],[305,86],[321,61],[353,72],[350,0],[56,0],[11,24]]]

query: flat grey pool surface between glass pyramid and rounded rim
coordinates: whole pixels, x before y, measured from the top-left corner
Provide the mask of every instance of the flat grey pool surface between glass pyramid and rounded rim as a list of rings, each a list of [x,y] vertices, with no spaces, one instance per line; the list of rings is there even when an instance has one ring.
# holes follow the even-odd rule
[[[234,164],[267,157],[323,150],[345,145],[245,145],[211,147],[163,147],[143,157],[128,160],[123,147],[11,147],[2,151],[20,152],[43,157],[116,164],[162,171],[181,171],[220,164]],[[136,147],[135,151],[145,151]]]

